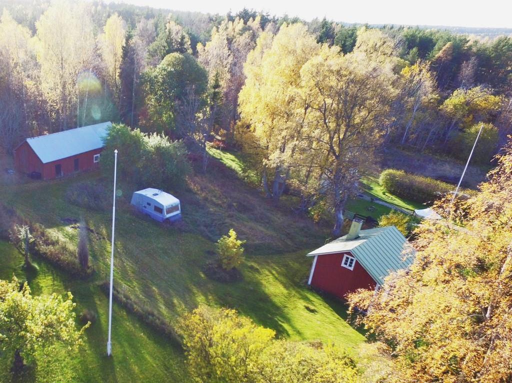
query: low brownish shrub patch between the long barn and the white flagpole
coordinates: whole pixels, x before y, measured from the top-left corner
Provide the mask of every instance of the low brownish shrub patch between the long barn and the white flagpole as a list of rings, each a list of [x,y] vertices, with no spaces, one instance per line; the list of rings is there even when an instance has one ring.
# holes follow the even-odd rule
[[[70,204],[92,210],[106,210],[110,207],[111,196],[101,184],[80,182],[66,191]]]

